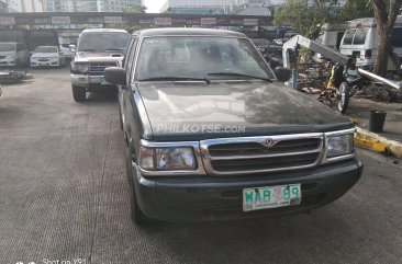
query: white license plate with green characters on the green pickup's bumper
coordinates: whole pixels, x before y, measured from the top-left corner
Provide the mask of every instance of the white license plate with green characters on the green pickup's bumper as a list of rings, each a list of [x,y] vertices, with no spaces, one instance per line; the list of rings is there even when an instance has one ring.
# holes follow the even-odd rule
[[[243,211],[300,205],[300,184],[243,190]]]

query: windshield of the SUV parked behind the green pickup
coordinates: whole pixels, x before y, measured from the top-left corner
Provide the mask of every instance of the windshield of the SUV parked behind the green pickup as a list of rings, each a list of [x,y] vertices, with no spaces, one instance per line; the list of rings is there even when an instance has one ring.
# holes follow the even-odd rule
[[[78,43],[78,51],[124,53],[130,39],[129,33],[92,32],[83,33]]]

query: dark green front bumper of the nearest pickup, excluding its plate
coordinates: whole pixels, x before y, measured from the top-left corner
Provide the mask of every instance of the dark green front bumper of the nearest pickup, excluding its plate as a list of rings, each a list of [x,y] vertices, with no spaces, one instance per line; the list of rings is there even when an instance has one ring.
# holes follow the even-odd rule
[[[149,218],[225,220],[309,211],[343,196],[360,179],[358,160],[314,169],[241,176],[144,177],[133,163],[132,180],[137,204]],[[300,183],[302,202],[297,206],[243,211],[243,188]]]

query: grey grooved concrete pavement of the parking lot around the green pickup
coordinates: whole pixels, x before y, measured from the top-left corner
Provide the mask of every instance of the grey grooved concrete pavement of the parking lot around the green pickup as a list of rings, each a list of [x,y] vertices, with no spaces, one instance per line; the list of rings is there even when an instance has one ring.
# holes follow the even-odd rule
[[[0,99],[0,263],[402,263],[402,165],[358,150],[361,180],[312,214],[224,222],[130,219],[114,93],[72,100],[68,69]]]

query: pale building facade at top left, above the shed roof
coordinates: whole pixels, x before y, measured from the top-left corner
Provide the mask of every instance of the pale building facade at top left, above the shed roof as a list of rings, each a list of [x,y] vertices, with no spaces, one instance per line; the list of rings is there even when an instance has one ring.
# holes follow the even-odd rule
[[[45,0],[47,12],[124,12],[144,0]]]

